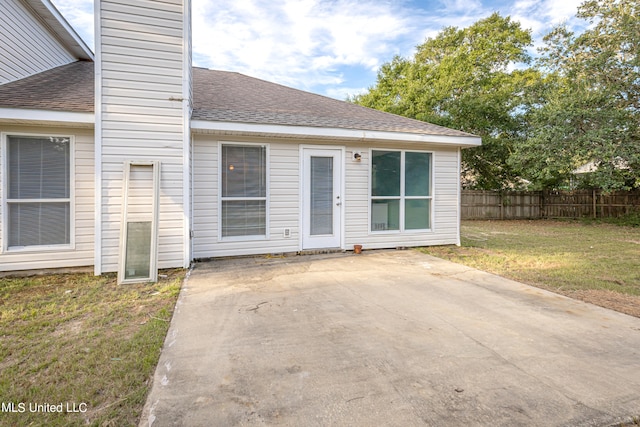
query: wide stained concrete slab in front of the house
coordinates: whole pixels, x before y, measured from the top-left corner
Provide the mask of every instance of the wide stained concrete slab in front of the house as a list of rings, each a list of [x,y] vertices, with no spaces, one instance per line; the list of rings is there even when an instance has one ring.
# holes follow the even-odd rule
[[[147,426],[609,426],[640,319],[416,251],[197,264]]]

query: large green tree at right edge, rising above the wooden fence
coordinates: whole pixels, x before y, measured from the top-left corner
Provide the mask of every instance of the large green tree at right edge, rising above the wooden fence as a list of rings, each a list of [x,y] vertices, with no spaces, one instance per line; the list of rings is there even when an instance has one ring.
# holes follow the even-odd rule
[[[605,190],[640,186],[640,3],[589,0],[544,41],[544,82],[530,93],[527,135],[510,163],[538,187],[560,186],[573,170],[596,165],[589,182]]]

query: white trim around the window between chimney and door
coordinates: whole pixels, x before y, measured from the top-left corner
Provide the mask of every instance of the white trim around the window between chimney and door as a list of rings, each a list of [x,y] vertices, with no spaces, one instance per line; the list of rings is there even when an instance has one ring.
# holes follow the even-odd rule
[[[265,149],[265,185],[266,192],[265,197],[222,197],[222,146],[223,145],[237,145],[237,146],[256,146],[256,147],[264,147]],[[218,141],[218,242],[254,242],[254,241],[266,241],[269,240],[269,206],[270,206],[270,179],[271,179],[271,162],[270,160],[270,148],[269,144],[259,143],[259,142],[242,142],[242,141]],[[227,200],[264,200],[265,202],[265,230],[264,235],[255,235],[255,236],[229,236],[222,237],[222,202]]]

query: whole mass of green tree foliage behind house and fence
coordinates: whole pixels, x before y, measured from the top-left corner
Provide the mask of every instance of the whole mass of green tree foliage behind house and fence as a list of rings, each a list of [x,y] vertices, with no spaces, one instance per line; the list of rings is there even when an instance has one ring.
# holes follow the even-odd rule
[[[530,32],[494,13],[393,58],[353,101],[481,136],[468,186],[561,187],[589,163],[589,185],[640,186],[639,16],[638,0],[588,0],[588,29],[553,29],[531,65]]]

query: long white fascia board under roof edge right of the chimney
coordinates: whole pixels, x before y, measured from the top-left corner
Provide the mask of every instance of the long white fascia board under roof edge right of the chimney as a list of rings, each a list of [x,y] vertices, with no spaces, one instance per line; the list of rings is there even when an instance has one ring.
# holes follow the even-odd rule
[[[418,134],[409,132],[371,131],[358,129],[323,128],[311,126],[263,125],[255,123],[213,122],[192,120],[194,131],[238,132],[243,134],[273,134],[284,136],[307,136],[329,139],[350,139],[358,141],[405,141],[434,144],[447,144],[463,147],[475,147],[482,144],[477,136],[448,136]]]

